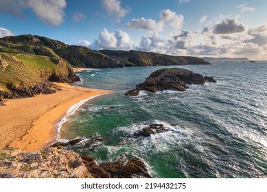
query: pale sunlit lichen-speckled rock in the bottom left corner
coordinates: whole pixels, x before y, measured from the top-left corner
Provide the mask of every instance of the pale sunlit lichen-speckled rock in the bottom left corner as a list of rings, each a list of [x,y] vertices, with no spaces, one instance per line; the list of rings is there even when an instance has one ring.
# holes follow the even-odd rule
[[[65,149],[23,153],[9,147],[0,154],[0,178],[93,178],[82,158]]]

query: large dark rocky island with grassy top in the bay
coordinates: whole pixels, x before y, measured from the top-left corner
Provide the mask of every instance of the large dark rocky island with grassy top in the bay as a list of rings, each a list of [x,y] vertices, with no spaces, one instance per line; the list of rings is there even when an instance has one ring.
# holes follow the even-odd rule
[[[216,80],[213,77],[203,77],[186,69],[165,68],[151,73],[145,82],[138,84],[136,89],[125,95],[135,96],[138,91],[185,91],[189,88],[187,84],[205,84],[206,82],[216,82]]]

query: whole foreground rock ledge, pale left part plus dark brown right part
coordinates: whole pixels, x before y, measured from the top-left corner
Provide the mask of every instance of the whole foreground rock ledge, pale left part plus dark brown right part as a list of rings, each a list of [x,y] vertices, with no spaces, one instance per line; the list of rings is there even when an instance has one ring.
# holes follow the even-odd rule
[[[151,178],[142,160],[117,160],[97,165],[88,154],[49,147],[23,153],[6,147],[0,151],[0,178]]]

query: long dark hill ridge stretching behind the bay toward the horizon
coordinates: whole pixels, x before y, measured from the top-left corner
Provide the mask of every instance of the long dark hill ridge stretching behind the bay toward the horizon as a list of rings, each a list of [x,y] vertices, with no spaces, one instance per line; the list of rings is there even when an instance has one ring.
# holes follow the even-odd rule
[[[196,57],[168,56],[143,51],[94,51],[83,46],[66,45],[58,40],[32,35],[0,38],[0,45],[39,56],[60,57],[73,67],[119,68],[209,64],[209,62]]]

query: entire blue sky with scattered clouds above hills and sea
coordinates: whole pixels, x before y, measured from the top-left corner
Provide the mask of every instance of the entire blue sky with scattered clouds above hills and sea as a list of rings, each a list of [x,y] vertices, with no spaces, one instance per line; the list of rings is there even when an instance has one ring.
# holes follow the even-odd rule
[[[266,0],[0,0],[0,37],[267,60]]]

